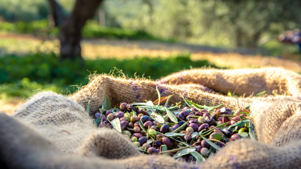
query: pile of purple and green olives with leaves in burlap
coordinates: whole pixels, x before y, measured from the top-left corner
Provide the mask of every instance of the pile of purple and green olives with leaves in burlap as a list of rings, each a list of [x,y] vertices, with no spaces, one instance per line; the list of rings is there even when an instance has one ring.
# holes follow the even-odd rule
[[[232,112],[224,107],[195,103],[182,109],[174,105],[165,108],[139,104],[121,103],[119,107],[96,113],[95,119],[100,118],[98,127],[121,129],[119,132],[144,154],[169,154],[191,164],[205,161],[228,142],[250,137],[251,113],[241,109]],[[113,125],[117,118],[120,124]]]

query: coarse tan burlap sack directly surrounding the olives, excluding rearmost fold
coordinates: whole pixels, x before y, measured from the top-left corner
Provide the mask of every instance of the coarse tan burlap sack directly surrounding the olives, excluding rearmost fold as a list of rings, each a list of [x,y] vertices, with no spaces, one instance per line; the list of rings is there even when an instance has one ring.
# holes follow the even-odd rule
[[[243,75],[244,70],[240,71]],[[258,72],[258,69],[250,70],[252,71]],[[296,75],[296,78],[298,77],[299,75]],[[177,86],[162,84],[162,81],[99,75],[69,98],[51,92],[39,93],[24,103],[13,117],[0,113],[0,167],[46,169],[301,167],[299,142],[301,102],[295,97],[238,98],[243,105],[253,101],[251,109],[258,141],[249,139],[232,142],[200,166],[178,162],[162,155],[142,155],[117,131],[93,126],[92,118],[85,112],[89,100],[92,115],[97,112],[105,96],[109,97],[112,106],[119,105],[120,102],[154,101],[157,99],[156,86],[162,97],[175,95],[170,100],[171,103],[180,101],[183,103],[180,97],[183,95],[188,100],[202,105],[216,106],[224,103],[225,107],[231,107],[232,110],[237,108],[236,98],[210,94],[198,89],[197,85]],[[271,90],[277,88],[287,86],[275,86]],[[265,90],[263,87],[260,90],[262,89]]]

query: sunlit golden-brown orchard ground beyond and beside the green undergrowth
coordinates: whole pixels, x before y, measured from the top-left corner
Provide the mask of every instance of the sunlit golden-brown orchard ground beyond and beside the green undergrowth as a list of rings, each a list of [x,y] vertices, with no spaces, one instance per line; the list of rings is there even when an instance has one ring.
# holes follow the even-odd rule
[[[24,55],[28,53],[59,54],[58,39],[42,39],[32,35],[17,35],[0,33],[0,56],[9,53]],[[85,39],[81,42],[82,57],[86,60],[95,59],[131,59],[137,57],[161,57],[167,58],[179,54],[190,53],[191,60],[208,60],[218,67],[235,68],[261,68],[282,67],[297,73],[301,73],[300,55],[283,54],[280,57],[262,56],[257,50],[250,49],[225,49],[209,46],[188,45],[182,43],[167,43],[142,40],[107,40]],[[14,110],[24,99],[13,98],[0,100],[0,107],[6,114],[13,114]]]

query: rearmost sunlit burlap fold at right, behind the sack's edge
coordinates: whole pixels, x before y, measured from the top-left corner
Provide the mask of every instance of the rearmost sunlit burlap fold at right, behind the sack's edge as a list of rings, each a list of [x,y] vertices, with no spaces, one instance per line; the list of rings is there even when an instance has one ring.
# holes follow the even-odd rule
[[[215,91],[227,94],[250,96],[266,91],[266,94],[299,96],[301,75],[281,68],[264,69],[192,69],[173,73],[161,78],[165,84],[202,84]]]

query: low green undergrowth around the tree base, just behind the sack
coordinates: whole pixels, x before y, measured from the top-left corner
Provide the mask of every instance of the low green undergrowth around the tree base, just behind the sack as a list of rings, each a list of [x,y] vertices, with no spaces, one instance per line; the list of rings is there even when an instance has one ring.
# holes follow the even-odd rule
[[[83,63],[84,62],[84,63]],[[117,69],[128,77],[137,76],[159,79],[172,72],[190,67],[215,67],[207,60],[191,61],[189,55],[160,58],[135,58],[131,60],[64,60],[59,62],[55,54],[29,54],[26,56],[4,55],[0,57],[0,92],[7,96],[28,97],[36,89],[73,93],[77,88],[70,85],[88,84],[88,75],[110,73]],[[119,75],[117,70],[115,75]],[[112,73],[112,72],[111,72]],[[26,77],[26,78],[24,78]]]

